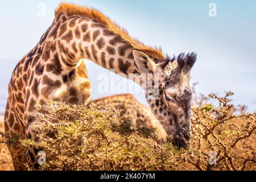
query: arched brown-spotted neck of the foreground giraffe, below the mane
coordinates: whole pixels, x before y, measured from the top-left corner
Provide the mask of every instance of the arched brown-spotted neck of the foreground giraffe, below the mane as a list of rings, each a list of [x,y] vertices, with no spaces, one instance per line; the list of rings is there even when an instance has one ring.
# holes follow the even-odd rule
[[[49,41],[56,44],[64,67],[75,67],[80,59],[89,59],[127,78],[130,73],[140,73],[135,65],[133,47],[92,19],[59,14],[53,22],[52,32],[55,35],[46,44]]]

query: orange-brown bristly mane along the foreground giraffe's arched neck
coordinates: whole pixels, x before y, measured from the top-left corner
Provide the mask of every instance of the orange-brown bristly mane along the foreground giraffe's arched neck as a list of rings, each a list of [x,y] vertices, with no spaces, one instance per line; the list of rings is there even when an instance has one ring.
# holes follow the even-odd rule
[[[148,56],[154,57],[158,60],[166,60],[162,50],[156,47],[150,47],[144,45],[136,38],[131,38],[125,28],[120,27],[117,23],[114,23],[108,16],[102,14],[100,11],[93,9],[92,7],[78,6],[73,3],[60,3],[60,5],[55,10],[55,16],[60,13],[75,14],[86,16],[87,18],[93,19],[97,23],[102,24],[109,31],[118,35],[125,42],[130,44],[134,49],[146,53]]]

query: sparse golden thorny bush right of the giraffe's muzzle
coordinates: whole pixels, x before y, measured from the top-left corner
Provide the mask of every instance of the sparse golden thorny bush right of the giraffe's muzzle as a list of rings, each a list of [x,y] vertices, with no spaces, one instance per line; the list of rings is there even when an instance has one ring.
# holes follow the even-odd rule
[[[245,106],[236,108],[230,103],[231,96],[232,92],[225,92],[224,97],[210,94],[194,98],[192,148],[196,155],[187,166],[199,170],[256,169],[256,113],[246,113]],[[216,154],[213,165],[209,164],[212,152]]]

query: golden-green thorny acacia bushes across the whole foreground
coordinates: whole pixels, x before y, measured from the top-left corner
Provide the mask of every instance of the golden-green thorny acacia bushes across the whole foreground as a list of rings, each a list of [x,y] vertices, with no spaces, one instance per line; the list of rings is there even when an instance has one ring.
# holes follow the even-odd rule
[[[193,99],[189,150],[159,143],[156,129],[131,129],[115,108],[37,104],[36,142],[47,152],[40,170],[255,170],[255,115],[210,94]],[[213,104],[214,103],[214,104]],[[28,168],[29,169],[29,168]]]

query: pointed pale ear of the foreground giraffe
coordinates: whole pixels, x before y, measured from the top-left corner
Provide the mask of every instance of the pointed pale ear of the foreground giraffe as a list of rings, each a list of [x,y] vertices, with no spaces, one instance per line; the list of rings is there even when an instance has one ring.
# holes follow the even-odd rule
[[[133,51],[135,63],[142,73],[156,73],[158,66],[145,53]]]

